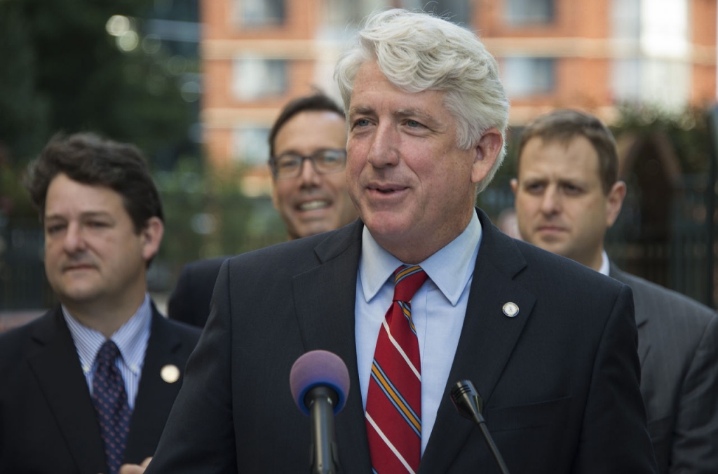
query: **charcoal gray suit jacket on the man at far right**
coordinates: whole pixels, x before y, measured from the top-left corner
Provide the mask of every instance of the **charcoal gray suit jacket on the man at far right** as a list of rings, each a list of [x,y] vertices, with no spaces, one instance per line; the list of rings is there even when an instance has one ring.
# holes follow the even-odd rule
[[[709,307],[627,274],[633,289],[648,433],[660,473],[718,472],[718,316]]]

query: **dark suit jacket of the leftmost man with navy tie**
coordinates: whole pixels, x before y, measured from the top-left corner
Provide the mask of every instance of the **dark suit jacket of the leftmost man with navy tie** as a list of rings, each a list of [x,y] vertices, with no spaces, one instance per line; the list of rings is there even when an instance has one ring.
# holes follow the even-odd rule
[[[154,455],[182,376],[160,377],[166,364],[184,371],[200,331],[152,308],[151,333],[135,399],[125,460]],[[95,408],[60,307],[0,335],[0,473],[106,473]]]

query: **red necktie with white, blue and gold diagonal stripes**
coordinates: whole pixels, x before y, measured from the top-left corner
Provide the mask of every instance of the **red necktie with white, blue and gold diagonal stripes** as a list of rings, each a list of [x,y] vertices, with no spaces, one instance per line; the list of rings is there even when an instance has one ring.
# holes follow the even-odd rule
[[[376,474],[416,473],[421,460],[421,359],[411,298],[426,281],[420,266],[394,271],[394,297],[379,330],[366,399]]]

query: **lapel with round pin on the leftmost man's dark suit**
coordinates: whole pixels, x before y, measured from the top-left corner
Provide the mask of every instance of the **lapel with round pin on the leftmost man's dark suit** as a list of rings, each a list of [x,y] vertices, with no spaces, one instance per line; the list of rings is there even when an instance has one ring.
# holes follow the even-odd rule
[[[140,463],[154,452],[169,410],[182,385],[181,377],[168,383],[160,373],[166,364],[178,363],[172,354],[181,344],[180,339],[174,337],[169,322],[152,305],[150,335],[125,449],[127,462]],[[182,366],[177,368],[181,372],[185,370]]]

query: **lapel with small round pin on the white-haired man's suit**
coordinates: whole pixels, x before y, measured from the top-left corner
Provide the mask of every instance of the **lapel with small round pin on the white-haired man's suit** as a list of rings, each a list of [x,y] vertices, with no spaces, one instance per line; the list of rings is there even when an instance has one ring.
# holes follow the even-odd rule
[[[451,387],[468,379],[484,404],[488,404],[536,302],[533,294],[513,282],[513,277],[526,266],[516,244],[500,233],[482,211],[477,212],[482,242],[459,345],[432,429],[432,433],[441,436],[429,438],[419,465],[422,474],[446,472],[473,429],[473,424],[460,417],[449,399]],[[518,306],[515,317],[504,314],[503,305],[507,302]],[[479,445],[473,449],[488,448]]]

